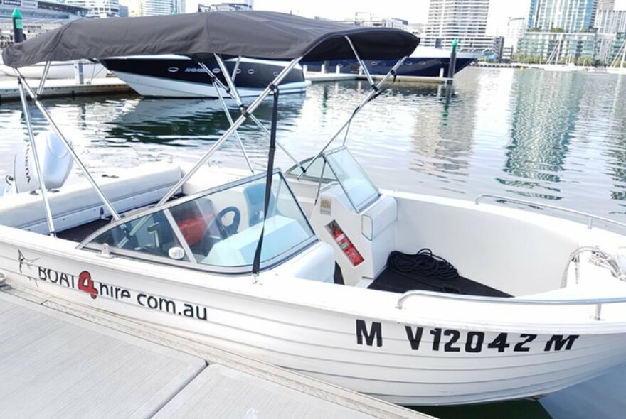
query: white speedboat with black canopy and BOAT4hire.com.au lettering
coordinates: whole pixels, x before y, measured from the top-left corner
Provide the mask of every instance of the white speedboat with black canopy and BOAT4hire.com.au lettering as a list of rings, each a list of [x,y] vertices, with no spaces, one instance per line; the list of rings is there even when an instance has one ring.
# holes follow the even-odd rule
[[[204,28],[218,32],[208,36]],[[399,66],[418,44],[409,33],[252,11],[77,21],[63,29],[80,43],[43,51],[38,42],[55,33],[43,34],[5,50],[6,62],[90,57],[102,33],[117,45],[107,55],[147,46],[150,54],[171,52],[154,47],[158,33],[159,45],[186,45],[179,53],[290,64],[193,167],[151,165],[95,182],[67,145],[93,188],[54,185],[58,192],[0,201],[0,271],[10,285],[403,405],[541,396],[626,361],[624,235],[482,202],[488,197],[381,191],[347,148],[329,148],[391,72],[372,82],[322,151],[285,173],[273,169],[279,94],[267,173],[204,165],[299,60],[358,51],[360,60],[400,58]],[[197,43],[176,43],[186,39]],[[23,88],[49,118],[33,89]],[[28,118],[26,99],[23,107]],[[27,126],[33,152],[42,152],[51,138],[34,141]],[[36,188],[46,171],[21,167],[16,177]],[[455,268],[428,251],[416,254],[422,248]]]

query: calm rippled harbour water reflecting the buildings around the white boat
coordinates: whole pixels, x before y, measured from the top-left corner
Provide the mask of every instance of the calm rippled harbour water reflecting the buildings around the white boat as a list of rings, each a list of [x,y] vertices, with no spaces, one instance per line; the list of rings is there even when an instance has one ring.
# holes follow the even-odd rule
[[[297,158],[311,156],[365,94],[366,83],[341,82],[282,97],[279,141]],[[191,161],[228,128],[211,100],[46,102],[95,170],[169,156]],[[482,193],[527,197],[626,222],[625,103],[623,76],[468,68],[453,94],[437,86],[393,85],[359,114],[347,141],[379,187],[465,200]],[[265,102],[257,115],[268,124],[270,111]],[[33,118],[37,131],[46,129],[34,109]],[[262,167],[266,138],[253,124],[240,132]],[[16,147],[26,138],[19,104],[0,106],[0,138],[1,175],[11,172]],[[280,151],[277,161],[283,169],[291,165]],[[245,167],[235,141],[211,164]],[[455,418],[545,415],[531,402],[427,411]]]

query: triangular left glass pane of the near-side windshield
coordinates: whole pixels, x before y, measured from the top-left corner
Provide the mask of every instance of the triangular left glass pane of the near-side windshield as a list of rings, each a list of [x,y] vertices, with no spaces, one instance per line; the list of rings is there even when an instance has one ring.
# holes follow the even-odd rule
[[[137,251],[169,258],[169,249],[181,246],[171,224],[162,211],[120,224],[97,236],[93,241],[108,244],[112,249]],[[179,252],[179,260],[188,260]]]

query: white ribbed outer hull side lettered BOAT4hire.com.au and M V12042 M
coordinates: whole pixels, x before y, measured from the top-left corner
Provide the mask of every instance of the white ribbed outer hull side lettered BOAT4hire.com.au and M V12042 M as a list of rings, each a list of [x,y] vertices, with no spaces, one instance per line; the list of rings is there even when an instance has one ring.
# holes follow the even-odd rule
[[[412,310],[399,310],[394,293],[274,274],[258,283],[211,276],[106,259],[38,234],[33,246],[33,235],[0,227],[0,268],[11,285],[402,405],[539,396],[602,374],[624,358],[622,333],[437,321],[446,315],[431,311],[435,307],[463,317],[472,306],[416,299]]]

